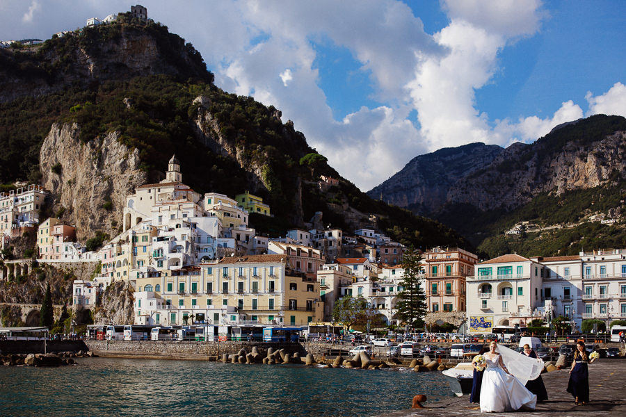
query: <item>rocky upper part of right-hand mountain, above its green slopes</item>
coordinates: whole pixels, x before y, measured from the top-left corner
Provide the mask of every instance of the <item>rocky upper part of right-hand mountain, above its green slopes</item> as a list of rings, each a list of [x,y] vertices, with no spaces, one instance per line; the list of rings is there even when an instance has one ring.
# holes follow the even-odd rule
[[[454,183],[447,202],[508,211],[540,193],[560,195],[625,179],[625,157],[626,120],[593,116],[532,145],[511,145],[488,166]]]

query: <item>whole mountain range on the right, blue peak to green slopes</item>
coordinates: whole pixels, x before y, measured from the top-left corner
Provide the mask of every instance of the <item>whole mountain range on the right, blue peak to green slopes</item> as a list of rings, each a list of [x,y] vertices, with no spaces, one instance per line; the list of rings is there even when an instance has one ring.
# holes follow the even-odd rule
[[[485,256],[505,252],[548,256],[577,253],[585,246],[626,245],[621,218],[626,197],[624,117],[595,115],[568,122],[532,144],[515,143],[488,156],[481,152],[472,156],[464,148],[444,149],[444,154],[457,156],[454,161],[475,158],[464,161],[472,168],[457,170],[456,178],[447,177],[446,171],[454,167],[444,165],[433,152],[414,158],[369,195],[380,195],[380,187],[386,199],[388,184],[414,183],[415,192],[405,187],[406,203],[399,199],[399,205],[453,227]],[[417,163],[422,165],[419,170],[409,167]],[[440,186],[433,177],[440,179]],[[433,188],[436,204],[424,195],[427,187]],[[600,222],[602,218],[607,222]],[[534,226],[506,234],[522,221]]]

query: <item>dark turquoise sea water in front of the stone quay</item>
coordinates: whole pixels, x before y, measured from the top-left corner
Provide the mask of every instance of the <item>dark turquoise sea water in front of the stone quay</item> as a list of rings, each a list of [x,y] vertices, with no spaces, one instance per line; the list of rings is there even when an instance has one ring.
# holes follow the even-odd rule
[[[373,416],[451,396],[441,373],[79,359],[0,367],[2,416]]]

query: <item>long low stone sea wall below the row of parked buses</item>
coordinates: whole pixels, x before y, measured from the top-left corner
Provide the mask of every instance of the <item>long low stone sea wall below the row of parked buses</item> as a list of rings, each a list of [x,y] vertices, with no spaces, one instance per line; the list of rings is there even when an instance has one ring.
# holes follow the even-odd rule
[[[196,342],[196,341],[85,341],[88,350],[102,356],[147,356],[171,357],[177,359],[218,357],[221,354],[234,354],[241,348],[250,352],[256,346],[259,354],[265,356],[269,347],[273,350],[284,348],[300,355],[306,351],[300,343],[261,343],[261,342]]]

